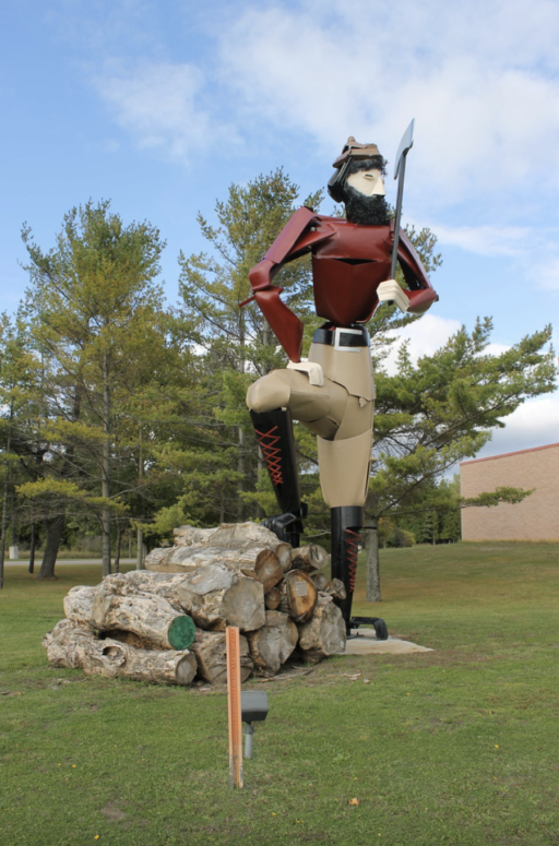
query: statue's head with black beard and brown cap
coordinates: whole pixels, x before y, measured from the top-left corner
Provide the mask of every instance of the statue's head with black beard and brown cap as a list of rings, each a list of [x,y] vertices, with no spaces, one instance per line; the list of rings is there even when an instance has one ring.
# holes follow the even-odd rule
[[[328,190],[336,203],[344,203],[349,223],[388,224],[390,210],[384,199],[386,162],[376,144],[359,144],[347,139]]]

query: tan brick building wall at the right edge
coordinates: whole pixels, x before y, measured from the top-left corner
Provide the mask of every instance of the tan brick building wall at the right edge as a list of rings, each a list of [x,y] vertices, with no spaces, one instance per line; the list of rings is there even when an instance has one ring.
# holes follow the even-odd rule
[[[559,540],[559,443],[464,462],[460,479],[463,497],[535,488],[516,505],[463,509],[463,540]]]

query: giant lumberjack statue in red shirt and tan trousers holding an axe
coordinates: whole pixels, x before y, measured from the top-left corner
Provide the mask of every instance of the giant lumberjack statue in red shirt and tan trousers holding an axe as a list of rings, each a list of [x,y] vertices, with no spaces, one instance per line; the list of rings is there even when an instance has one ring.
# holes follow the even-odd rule
[[[374,144],[359,144],[350,136],[329,182],[330,195],[345,204],[345,219],[302,206],[249,273],[250,300],[257,300],[289,357],[286,369],[262,377],[247,393],[282,511],[266,525],[282,540],[299,545],[306,508],[297,477],[295,418],[317,436],[322,496],[331,510],[332,577],[346,588],[340,605],[348,634],[366,620],[350,616],[372,450],[374,381],[366,325],[382,302],[421,314],[438,299],[412,242],[400,231],[412,139],[413,122],[396,156],[395,219],[390,219],[385,201],[386,162]],[[317,314],[325,322],[314,333],[308,360],[301,360],[304,324],[282,301],[283,289],[273,279],[284,264],[309,252]],[[396,261],[405,287],[394,278]]]

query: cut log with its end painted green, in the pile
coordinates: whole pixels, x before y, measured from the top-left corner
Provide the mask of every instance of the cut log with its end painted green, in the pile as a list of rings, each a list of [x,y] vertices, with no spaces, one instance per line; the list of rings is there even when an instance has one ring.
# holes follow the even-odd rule
[[[93,619],[98,629],[134,632],[164,650],[187,650],[194,640],[194,623],[177,613],[162,596],[107,594],[100,585],[93,600]]]

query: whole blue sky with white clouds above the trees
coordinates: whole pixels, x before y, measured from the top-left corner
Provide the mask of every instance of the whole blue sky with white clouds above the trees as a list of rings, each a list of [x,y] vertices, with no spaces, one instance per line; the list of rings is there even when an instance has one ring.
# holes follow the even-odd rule
[[[230,183],[282,165],[302,199],[349,134],[391,160],[414,117],[404,218],[444,260],[416,355],[477,315],[496,349],[559,326],[556,0],[19,0],[2,24],[0,310],[26,286],[23,222],[46,249],[110,199],[160,229],[175,302],[197,212]],[[481,454],[557,442],[558,421],[557,394],[534,401]]]

